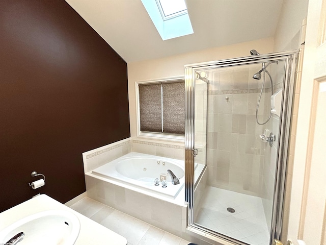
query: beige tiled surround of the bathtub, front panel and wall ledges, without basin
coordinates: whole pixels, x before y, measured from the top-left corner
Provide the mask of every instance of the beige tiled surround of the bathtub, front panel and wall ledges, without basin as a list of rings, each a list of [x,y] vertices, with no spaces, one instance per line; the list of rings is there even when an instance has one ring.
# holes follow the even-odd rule
[[[131,151],[145,154],[154,152],[157,155],[165,155],[165,157],[171,157],[171,155],[175,154],[174,156],[178,156],[179,159],[184,158],[184,147],[178,143],[167,144],[130,139],[115,142],[84,153],[84,168],[88,170],[88,172],[85,171],[87,197],[141,219],[157,228],[184,237],[187,225],[184,187],[176,199],[172,200],[162,197],[162,195],[146,192],[114,180],[107,180],[101,176],[91,174],[91,171],[96,167],[102,166]],[[122,154],[124,152],[125,154]],[[202,166],[197,169],[202,169]],[[196,174],[196,176],[198,175],[199,173]]]

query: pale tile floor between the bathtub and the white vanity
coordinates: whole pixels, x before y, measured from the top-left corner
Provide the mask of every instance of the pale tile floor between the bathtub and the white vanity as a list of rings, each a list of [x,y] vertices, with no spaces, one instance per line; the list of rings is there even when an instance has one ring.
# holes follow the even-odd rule
[[[90,198],[84,198],[70,208],[125,237],[128,245],[187,245],[189,243]]]

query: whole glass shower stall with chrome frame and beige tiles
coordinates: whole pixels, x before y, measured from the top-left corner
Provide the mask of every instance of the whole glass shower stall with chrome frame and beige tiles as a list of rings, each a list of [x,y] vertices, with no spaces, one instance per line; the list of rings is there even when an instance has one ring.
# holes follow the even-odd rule
[[[235,244],[279,239],[297,56],[252,50],[185,66],[189,229]]]

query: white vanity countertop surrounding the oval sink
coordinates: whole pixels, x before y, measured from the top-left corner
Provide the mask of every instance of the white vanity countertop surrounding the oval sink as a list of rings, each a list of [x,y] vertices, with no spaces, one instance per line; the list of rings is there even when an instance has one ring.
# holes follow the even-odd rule
[[[71,208],[48,197],[48,195],[45,194],[38,195],[35,198],[0,213],[0,231],[23,217],[52,209],[70,211],[78,217],[80,222],[80,232],[75,245],[127,244],[126,238],[94,222],[92,219],[72,210]]]

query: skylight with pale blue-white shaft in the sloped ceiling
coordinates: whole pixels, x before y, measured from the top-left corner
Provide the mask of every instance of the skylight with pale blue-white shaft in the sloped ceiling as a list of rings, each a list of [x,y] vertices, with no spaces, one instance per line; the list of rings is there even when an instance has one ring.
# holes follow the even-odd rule
[[[141,0],[162,40],[193,34],[184,0]]]

